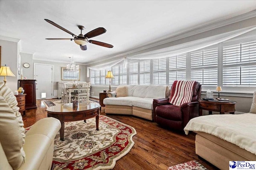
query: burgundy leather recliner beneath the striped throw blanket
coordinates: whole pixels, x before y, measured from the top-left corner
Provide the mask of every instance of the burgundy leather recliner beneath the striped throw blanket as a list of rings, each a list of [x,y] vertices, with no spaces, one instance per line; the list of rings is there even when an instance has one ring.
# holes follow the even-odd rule
[[[191,102],[175,106],[169,103],[169,98],[153,100],[154,121],[163,127],[183,131],[188,121],[199,116],[198,99],[201,97],[202,85],[194,83]],[[171,96],[175,86],[171,87]]]

